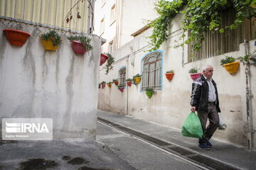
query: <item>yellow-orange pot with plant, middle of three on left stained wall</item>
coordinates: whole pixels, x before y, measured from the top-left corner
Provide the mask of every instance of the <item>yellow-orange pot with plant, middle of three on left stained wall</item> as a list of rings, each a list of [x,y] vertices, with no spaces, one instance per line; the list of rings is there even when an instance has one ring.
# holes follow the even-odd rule
[[[42,41],[43,47],[46,50],[57,50],[58,46],[61,42],[61,37],[55,30],[50,30],[47,33],[43,33],[40,35],[40,39]]]

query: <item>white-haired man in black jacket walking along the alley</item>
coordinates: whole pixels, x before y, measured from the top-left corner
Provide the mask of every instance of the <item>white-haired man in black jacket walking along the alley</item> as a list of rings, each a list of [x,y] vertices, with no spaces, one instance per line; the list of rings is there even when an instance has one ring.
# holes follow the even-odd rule
[[[220,112],[218,91],[213,81],[213,67],[207,65],[202,69],[203,75],[193,81],[191,93],[191,111],[198,112],[198,118],[203,128],[203,137],[198,141],[198,147],[209,150],[213,145],[209,142],[213,133],[218,128]],[[206,122],[209,125],[206,128]]]

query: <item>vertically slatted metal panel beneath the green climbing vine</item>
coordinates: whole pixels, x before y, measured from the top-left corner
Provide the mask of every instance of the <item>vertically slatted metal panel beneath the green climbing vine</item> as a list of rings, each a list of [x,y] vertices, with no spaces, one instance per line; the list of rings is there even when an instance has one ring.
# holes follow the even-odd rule
[[[221,28],[230,26],[233,21],[235,21],[234,8],[223,11]],[[205,40],[202,42],[201,50],[193,52],[193,42],[188,45],[188,62],[238,51],[240,43],[244,42],[244,40],[255,39],[255,25],[255,18],[252,18],[251,20],[246,19],[237,30],[227,29],[225,33],[219,33],[218,31],[204,33]]]

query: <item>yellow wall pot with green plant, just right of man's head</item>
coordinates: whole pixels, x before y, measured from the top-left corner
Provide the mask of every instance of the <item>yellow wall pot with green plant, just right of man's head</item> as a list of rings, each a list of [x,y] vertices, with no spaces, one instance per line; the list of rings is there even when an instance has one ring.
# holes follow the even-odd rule
[[[220,65],[222,65],[223,67],[225,67],[225,69],[226,69],[230,74],[233,74],[233,73],[238,72],[239,62],[235,62],[235,58],[234,58],[234,57],[225,56],[225,58],[223,58],[222,60],[220,60]]]

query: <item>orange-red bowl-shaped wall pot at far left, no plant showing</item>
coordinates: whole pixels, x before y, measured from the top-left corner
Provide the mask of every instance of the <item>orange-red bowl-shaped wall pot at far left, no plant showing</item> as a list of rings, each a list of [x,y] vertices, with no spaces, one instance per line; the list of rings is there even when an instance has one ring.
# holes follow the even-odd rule
[[[30,36],[29,33],[23,32],[22,30],[5,29],[3,31],[11,45],[22,46]]]

